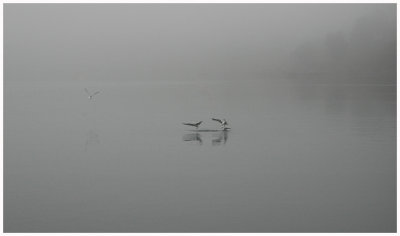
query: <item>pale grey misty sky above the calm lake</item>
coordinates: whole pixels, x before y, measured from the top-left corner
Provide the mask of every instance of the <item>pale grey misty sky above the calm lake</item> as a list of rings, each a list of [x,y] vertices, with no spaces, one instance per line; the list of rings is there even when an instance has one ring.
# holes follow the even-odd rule
[[[366,27],[358,27],[363,22]],[[333,40],[331,51],[350,52],[353,45],[365,45],[361,52],[371,48],[368,38],[383,35],[372,45],[377,50],[354,52],[358,56],[346,62],[347,67],[360,64],[346,69],[354,73],[375,64],[358,61],[374,58],[382,45],[389,42],[382,50],[395,50],[395,27],[395,4],[5,4],[5,81],[234,80],[282,71],[330,73],[341,65],[314,62],[330,58],[330,51],[325,53],[330,35],[347,40],[347,49]],[[357,29],[366,36],[353,37]],[[394,65],[395,52],[386,51],[379,61]],[[341,57],[352,58],[336,56]],[[393,74],[393,68],[382,71]]]

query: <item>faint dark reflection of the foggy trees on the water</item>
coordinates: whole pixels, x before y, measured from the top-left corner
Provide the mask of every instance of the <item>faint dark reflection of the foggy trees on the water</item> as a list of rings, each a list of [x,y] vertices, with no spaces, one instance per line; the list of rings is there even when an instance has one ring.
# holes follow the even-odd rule
[[[307,91],[311,91],[307,93]],[[327,124],[348,127],[358,136],[378,140],[395,127],[396,87],[390,85],[295,86],[301,112],[317,112]],[[312,110],[307,110],[313,104]],[[320,108],[320,109],[314,109]]]

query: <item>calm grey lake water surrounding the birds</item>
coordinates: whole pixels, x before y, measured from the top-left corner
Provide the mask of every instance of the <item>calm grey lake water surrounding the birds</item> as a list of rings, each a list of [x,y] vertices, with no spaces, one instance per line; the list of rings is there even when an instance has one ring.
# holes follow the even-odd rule
[[[6,81],[4,99],[6,232],[396,230],[395,86]],[[213,117],[232,129],[201,132]]]

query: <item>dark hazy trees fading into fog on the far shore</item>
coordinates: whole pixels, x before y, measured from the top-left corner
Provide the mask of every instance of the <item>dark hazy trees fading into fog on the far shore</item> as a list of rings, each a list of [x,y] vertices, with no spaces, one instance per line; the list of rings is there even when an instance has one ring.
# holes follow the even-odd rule
[[[280,71],[302,82],[395,83],[396,18],[374,12],[351,30],[299,45]]]

